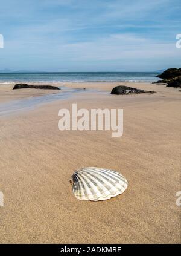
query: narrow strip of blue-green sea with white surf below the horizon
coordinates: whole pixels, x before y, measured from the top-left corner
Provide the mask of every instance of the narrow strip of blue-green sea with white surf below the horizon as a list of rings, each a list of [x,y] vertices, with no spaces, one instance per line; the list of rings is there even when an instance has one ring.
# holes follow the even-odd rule
[[[155,82],[157,72],[0,73],[0,84],[11,82]]]

